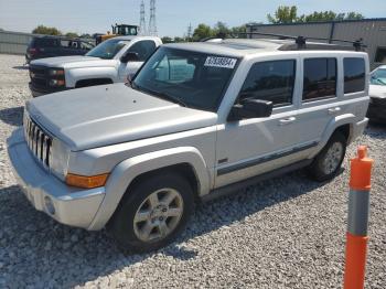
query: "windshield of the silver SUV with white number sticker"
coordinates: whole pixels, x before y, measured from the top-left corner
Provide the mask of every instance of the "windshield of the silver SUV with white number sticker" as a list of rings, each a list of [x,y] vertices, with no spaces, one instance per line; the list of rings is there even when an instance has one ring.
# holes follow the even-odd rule
[[[180,105],[216,111],[236,64],[235,57],[161,47],[131,86]]]

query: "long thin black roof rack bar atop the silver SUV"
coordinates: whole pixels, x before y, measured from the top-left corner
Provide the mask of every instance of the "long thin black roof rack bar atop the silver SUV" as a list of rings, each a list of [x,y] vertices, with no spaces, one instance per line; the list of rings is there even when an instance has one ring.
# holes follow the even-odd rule
[[[354,46],[355,51],[361,51],[364,47],[367,47],[367,45],[363,44],[363,39],[358,39],[355,41],[351,40],[341,40],[341,39],[325,39],[325,38],[312,38],[312,36],[294,36],[294,35],[286,35],[286,34],[277,34],[277,33],[264,33],[264,32],[242,32],[237,33],[238,35],[261,35],[261,36],[274,36],[278,38],[280,40],[294,40],[294,42],[298,44],[299,49],[304,49],[307,40],[320,40],[320,41],[329,41],[329,42],[342,42],[342,43],[350,43]]]

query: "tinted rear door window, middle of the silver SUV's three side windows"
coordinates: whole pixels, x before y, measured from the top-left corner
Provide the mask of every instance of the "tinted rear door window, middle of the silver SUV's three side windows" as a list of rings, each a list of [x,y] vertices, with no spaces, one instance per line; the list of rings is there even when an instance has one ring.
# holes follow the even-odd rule
[[[304,60],[303,101],[336,95],[336,58]]]

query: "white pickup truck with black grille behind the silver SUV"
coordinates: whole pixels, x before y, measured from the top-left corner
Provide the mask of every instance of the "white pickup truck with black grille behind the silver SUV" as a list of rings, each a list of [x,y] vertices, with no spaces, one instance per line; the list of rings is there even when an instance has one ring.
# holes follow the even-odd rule
[[[162,44],[159,38],[119,36],[84,56],[42,58],[30,64],[34,97],[94,85],[122,83]]]

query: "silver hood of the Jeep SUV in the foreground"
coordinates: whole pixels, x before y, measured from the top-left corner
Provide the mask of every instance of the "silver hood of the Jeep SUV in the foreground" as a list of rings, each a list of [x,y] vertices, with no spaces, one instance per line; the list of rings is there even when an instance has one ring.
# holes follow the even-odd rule
[[[73,151],[213,126],[217,115],[163,100],[124,84],[34,98],[26,109]]]

